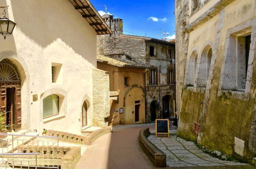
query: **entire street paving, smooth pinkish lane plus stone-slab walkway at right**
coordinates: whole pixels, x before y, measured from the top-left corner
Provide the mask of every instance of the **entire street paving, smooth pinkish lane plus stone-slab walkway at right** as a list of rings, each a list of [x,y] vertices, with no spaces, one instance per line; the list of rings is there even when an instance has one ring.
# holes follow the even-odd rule
[[[140,147],[139,131],[149,127],[154,131],[154,124],[119,125],[114,132],[105,134],[88,146],[86,152],[75,166],[81,168],[155,168]],[[167,155],[167,168],[254,168],[243,163],[223,161],[203,153],[193,142],[176,136],[149,140]]]

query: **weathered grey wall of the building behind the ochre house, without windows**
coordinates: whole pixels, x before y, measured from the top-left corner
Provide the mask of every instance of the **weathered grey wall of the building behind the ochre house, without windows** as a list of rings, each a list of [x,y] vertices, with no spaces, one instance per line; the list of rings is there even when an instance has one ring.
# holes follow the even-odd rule
[[[156,56],[149,56],[150,46],[155,47]],[[168,49],[171,49],[171,58],[168,56]],[[157,100],[162,107],[162,97],[171,94],[172,100],[170,101],[170,108],[172,110],[173,116],[175,110],[175,84],[168,83],[168,70],[173,70],[173,75],[175,74],[175,47],[171,44],[166,44],[165,41],[155,41],[149,40],[145,37],[120,35],[119,37],[109,37],[109,36],[98,36],[97,37],[97,54],[105,56],[120,56],[121,59],[132,59],[136,62],[143,63],[151,68],[157,69],[157,81],[160,83],[156,85],[150,84],[150,71],[145,74],[146,77],[146,122],[151,122],[150,115],[150,103]],[[126,56],[125,56],[126,55]],[[133,74],[133,76],[135,76]],[[115,76],[113,76],[115,77]],[[130,77],[130,76],[129,76]],[[141,78],[141,79],[140,79]],[[139,78],[134,78],[134,84],[143,84],[144,77],[140,75]],[[140,80],[140,81],[136,81]],[[110,84],[110,86],[112,86]],[[142,85],[140,85],[142,86]],[[159,87],[161,86],[161,87]],[[114,89],[113,90],[117,90]],[[121,95],[121,93],[120,93]],[[120,98],[120,97],[119,97]],[[112,109],[112,108],[111,108]],[[121,115],[121,123],[125,123],[125,118]],[[157,118],[161,118],[162,115],[160,111],[157,112]]]

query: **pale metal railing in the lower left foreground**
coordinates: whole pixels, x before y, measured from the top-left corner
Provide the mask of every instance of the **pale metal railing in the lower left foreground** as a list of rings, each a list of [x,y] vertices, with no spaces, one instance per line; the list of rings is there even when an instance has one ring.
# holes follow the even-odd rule
[[[1,156],[2,164],[11,163],[12,166],[33,166],[36,167],[59,167],[60,151],[59,151],[59,139],[60,137],[53,136],[35,136],[35,135],[18,135],[18,134],[0,134],[0,136],[6,136],[6,138],[0,139],[0,156],[2,154],[22,154],[22,158],[12,156],[12,159]],[[14,136],[21,137],[15,139]],[[11,138],[8,138],[11,137]],[[28,139],[25,139],[28,138]],[[45,139],[45,140],[43,140]],[[55,139],[55,140],[47,140]],[[30,154],[38,153],[36,157]],[[27,155],[24,158],[24,155]],[[35,160],[36,159],[36,160]],[[21,163],[17,163],[21,161]],[[33,161],[33,162],[30,162]],[[0,160],[1,163],[1,160]]]

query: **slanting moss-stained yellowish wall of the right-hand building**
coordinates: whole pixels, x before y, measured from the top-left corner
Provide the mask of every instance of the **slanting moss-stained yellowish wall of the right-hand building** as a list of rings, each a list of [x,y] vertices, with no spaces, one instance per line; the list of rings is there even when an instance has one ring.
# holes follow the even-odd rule
[[[210,1],[209,4],[211,4],[211,2],[212,1]],[[179,126],[179,135],[190,140],[197,140],[201,145],[209,149],[218,150],[228,155],[233,155],[234,157],[252,162],[255,156],[255,150],[253,150],[252,145],[254,144],[253,140],[255,140],[256,135],[254,128],[255,122],[252,119],[255,114],[253,108],[256,104],[254,89],[255,75],[251,77],[251,80],[249,78],[249,81],[247,81],[247,83],[250,83],[248,92],[221,91],[220,81],[222,78],[221,75],[223,74],[223,65],[225,65],[225,45],[228,43],[228,30],[237,27],[236,29],[239,31],[239,28],[242,29],[249,20],[254,23],[252,19],[256,16],[256,2],[251,0],[223,1],[222,6],[219,7],[219,9],[223,8],[221,11],[211,13],[211,19],[205,20],[200,23],[198,27],[194,27],[189,32],[185,31],[182,23],[180,23],[182,20],[179,18],[179,15],[186,13],[184,11],[188,11],[184,3],[186,3],[186,1],[176,1],[176,54],[178,55],[178,59],[184,56],[182,50],[186,51],[188,47],[188,54],[185,54],[184,60],[177,60],[176,78],[178,82],[181,83],[181,81],[185,79],[178,70],[182,69],[186,61],[185,58],[188,59],[190,57],[190,53],[193,52],[195,47],[199,51],[197,69],[199,68],[200,57],[205,47],[204,44],[212,44],[212,60],[205,89],[195,88],[196,86],[183,86],[182,90],[177,86],[181,124]],[[182,10],[182,8],[184,10]],[[206,12],[206,8],[202,7],[198,12],[204,13]],[[186,20],[189,18],[188,15],[184,16]],[[193,14],[193,17],[195,16],[196,13]],[[184,23],[184,25],[188,25],[188,22]],[[180,29],[183,29],[183,31],[180,31]],[[254,26],[251,31],[251,44],[254,44]],[[188,46],[184,46],[184,44],[186,44],[185,36],[189,39]],[[251,53],[255,51],[254,46],[255,44],[251,45]],[[255,74],[255,63],[253,59],[255,59],[255,56],[250,55],[249,64],[252,65],[249,66],[249,68],[254,66],[253,74]],[[187,69],[187,64],[186,61],[184,70]],[[250,71],[252,70],[248,72],[250,73]],[[185,71],[185,76],[186,74],[187,70]],[[195,76],[198,76],[198,72],[196,72]],[[180,101],[181,98],[182,101]],[[191,100],[193,100],[193,104],[191,104]],[[202,104],[200,106],[199,102],[201,101]],[[200,124],[199,137],[192,133],[192,121],[196,121]],[[235,137],[245,141],[244,150],[241,150],[243,157],[235,154]]]

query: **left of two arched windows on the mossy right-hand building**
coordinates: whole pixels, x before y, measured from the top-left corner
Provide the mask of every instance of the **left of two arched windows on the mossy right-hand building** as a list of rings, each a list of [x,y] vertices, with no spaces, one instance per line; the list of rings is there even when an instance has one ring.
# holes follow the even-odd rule
[[[198,53],[196,53],[196,51],[193,51],[188,63],[187,86],[194,86],[194,78],[195,78],[197,62],[198,62]]]

